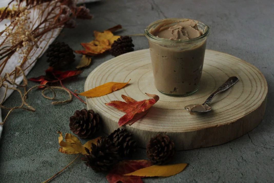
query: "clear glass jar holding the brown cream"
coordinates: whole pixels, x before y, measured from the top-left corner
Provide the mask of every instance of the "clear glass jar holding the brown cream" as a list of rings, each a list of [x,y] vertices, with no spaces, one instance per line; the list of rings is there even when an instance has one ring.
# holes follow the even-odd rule
[[[197,21],[196,26],[202,35],[189,40],[169,40],[152,34],[159,27],[171,27],[185,20],[188,19],[162,19],[152,22],[145,29],[155,87],[163,94],[186,96],[199,89],[209,27]]]

